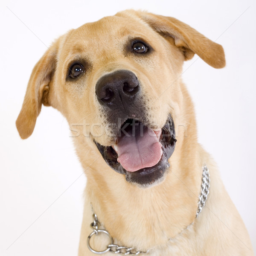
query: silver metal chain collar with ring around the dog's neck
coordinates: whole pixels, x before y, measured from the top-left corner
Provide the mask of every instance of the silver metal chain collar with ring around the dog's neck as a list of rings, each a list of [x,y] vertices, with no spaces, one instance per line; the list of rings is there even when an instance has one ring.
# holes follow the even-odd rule
[[[205,205],[205,202],[207,201],[207,197],[209,195],[209,187],[210,187],[210,178],[209,178],[209,176],[210,175],[209,175],[209,170],[208,170],[207,166],[203,166],[201,193],[199,195],[198,210],[197,210],[195,218],[198,217],[199,213],[202,211],[202,208]],[[192,225],[192,224],[189,224],[189,226]],[[93,252],[95,254],[103,254],[103,253],[111,252],[111,253],[116,253],[116,254],[121,254],[121,255],[139,255],[139,254],[149,253],[149,250],[147,250],[146,252],[137,251],[133,247],[126,247],[126,246],[120,246],[118,244],[114,244],[113,243],[113,238],[108,233],[108,231],[103,230],[103,229],[99,229],[99,225],[100,225],[100,223],[99,223],[98,217],[95,213],[93,213],[93,222],[90,224],[90,227],[93,229],[93,232],[90,233],[90,235],[87,238],[87,247],[89,248],[89,250],[91,252]],[[185,228],[185,230],[186,229],[187,229],[187,227]],[[104,233],[105,235],[107,235],[109,237],[109,241],[110,241],[110,244],[108,244],[106,246],[106,249],[102,250],[102,251],[96,251],[90,246],[91,237],[93,235],[98,236],[99,233]]]

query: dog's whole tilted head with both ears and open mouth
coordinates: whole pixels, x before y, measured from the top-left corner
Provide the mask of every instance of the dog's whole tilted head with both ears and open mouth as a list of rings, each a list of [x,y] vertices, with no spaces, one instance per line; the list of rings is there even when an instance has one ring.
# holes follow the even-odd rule
[[[194,53],[225,64],[220,45],[169,17],[125,11],[71,30],[32,72],[20,136],[32,134],[41,104],[51,105],[67,118],[80,157],[90,147],[128,182],[162,180],[184,117],[182,64]]]

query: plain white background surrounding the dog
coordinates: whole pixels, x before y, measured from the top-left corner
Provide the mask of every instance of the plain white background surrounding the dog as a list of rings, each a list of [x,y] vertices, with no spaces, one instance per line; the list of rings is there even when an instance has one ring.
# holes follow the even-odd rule
[[[77,254],[86,178],[67,122],[43,107],[34,133],[21,140],[15,120],[32,68],[55,38],[128,8],[176,17],[223,45],[224,69],[195,56],[183,79],[195,102],[199,141],[215,158],[256,250],[255,7],[249,0],[2,0],[0,254]]]

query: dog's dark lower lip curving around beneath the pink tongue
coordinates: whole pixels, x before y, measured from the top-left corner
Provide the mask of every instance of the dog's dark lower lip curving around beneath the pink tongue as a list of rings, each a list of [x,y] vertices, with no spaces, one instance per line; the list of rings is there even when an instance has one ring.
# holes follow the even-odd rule
[[[159,162],[152,167],[143,168],[136,172],[126,171],[120,163],[117,162],[117,153],[111,146],[104,146],[94,140],[99,152],[102,154],[105,162],[116,172],[125,175],[129,183],[136,183],[139,186],[150,186],[163,180],[166,170],[170,167],[168,162],[172,156],[175,144],[175,127],[171,114],[169,114],[165,125],[162,128],[162,134],[159,142],[162,144],[163,154]]]

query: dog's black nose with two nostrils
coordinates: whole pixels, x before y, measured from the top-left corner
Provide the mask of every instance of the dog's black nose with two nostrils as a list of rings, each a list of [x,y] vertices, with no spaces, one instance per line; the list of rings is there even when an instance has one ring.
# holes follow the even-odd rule
[[[139,90],[137,76],[128,70],[117,70],[102,76],[96,84],[99,102],[111,109],[133,103]]]

